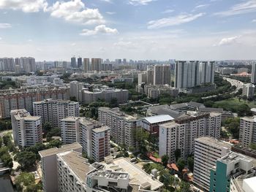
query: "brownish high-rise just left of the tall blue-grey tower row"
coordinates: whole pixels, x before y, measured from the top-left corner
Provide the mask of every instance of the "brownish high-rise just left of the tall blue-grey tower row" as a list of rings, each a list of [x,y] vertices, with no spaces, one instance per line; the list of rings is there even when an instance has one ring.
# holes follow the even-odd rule
[[[152,72],[151,72],[152,73]],[[154,66],[154,85],[170,85],[170,65],[155,65]],[[147,80],[150,80],[147,75]]]

